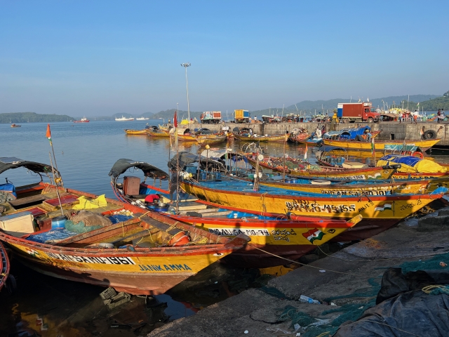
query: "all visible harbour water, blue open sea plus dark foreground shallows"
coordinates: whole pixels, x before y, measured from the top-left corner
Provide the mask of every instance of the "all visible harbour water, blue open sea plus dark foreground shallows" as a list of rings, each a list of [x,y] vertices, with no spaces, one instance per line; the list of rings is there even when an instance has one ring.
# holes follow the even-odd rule
[[[109,184],[110,177],[108,173],[114,162],[120,158],[147,161],[167,171],[169,156],[173,156],[175,153],[173,148],[170,149],[168,138],[127,136],[123,132],[124,128],[142,129],[145,128],[147,123],[149,125],[157,125],[160,122],[159,120],[128,122],[91,121],[86,124],[69,122],[51,124],[58,169],[62,174],[65,186],[94,194],[106,194],[107,197],[113,198],[114,194]],[[46,138],[46,128],[47,124],[44,123],[22,124],[20,128],[11,128],[9,124],[0,124],[0,157],[18,157],[24,160],[49,164],[48,152],[51,151],[51,147]],[[243,143],[234,141],[222,146],[241,150],[243,145]],[[283,143],[261,144],[261,146],[266,154],[283,155]],[[194,144],[185,145],[180,143],[179,150],[194,153],[201,152],[201,148]],[[311,162],[314,162],[313,151],[314,148],[309,147],[308,159]],[[286,153],[292,157],[302,157],[304,155],[304,147],[289,144],[286,146]],[[438,155],[438,161],[448,162],[449,157],[445,152],[434,152],[432,154]],[[142,178],[141,172],[126,174]],[[4,183],[4,178],[8,178],[17,186],[36,181],[36,177],[32,177],[32,173],[27,173],[26,169],[15,169],[2,173],[0,184]],[[93,314],[88,316],[87,308],[102,310],[100,318],[95,319],[95,326],[92,327],[86,322],[81,322],[81,324],[70,323],[69,327],[72,329],[72,335],[69,333],[67,336],[98,336],[98,331],[103,331],[105,333],[104,336],[135,336],[135,333],[129,330],[120,329],[114,331],[114,329],[109,327],[110,322],[107,320],[107,315],[109,314],[104,309],[104,305],[101,302],[99,303],[98,300],[98,294],[103,291],[101,287],[40,275],[19,265],[17,261],[13,261],[11,273],[18,278],[18,292],[13,294],[13,296],[8,296],[5,291],[0,293],[2,308],[7,312],[7,315],[0,315],[0,334],[2,336],[23,330],[23,326],[29,326],[39,331],[39,326],[35,326],[36,317],[41,317],[43,322],[49,326],[48,331],[39,331],[42,336],[57,336],[61,331],[56,326],[67,318],[67,308],[74,312],[78,310],[84,313],[88,317],[86,322],[90,322],[91,317],[93,317]],[[239,274],[241,273],[239,272]],[[207,276],[203,278],[210,279],[210,277],[214,277],[214,275]],[[215,286],[215,284],[208,287]],[[221,289],[219,285],[216,285],[217,289]],[[220,293],[220,290],[215,288],[210,290],[209,288],[209,291],[206,291],[206,295],[192,293],[189,290],[181,291],[180,293],[175,292],[175,297],[181,302],[171,299],[167,294],[156,296],[156,300],[161,303],[167,303],[167,308],[162,310],[170,319],[194,315],[196,310],[192,310],[192,305],[189,303],[196,303],[195,308],[201,308],[203,305],[199,305],[199,303],[215,303],[226,297],[223,294],[220,295],[220,298],[210,297],[208,293],[213,293],[214,295],[213,291]],[[41,291],[35,291],[35,289],[41,289]],[[225,293],[225,291],[223,290],[222,293]],[[223,298],[223,296],[225,297]],[[49,298],[53,300],[48,302]],[[148,308],[143,304],[143,300],[136,298],[134,301],[135,303],[140,301],[140,312],[147,313],[145,314],[148,315],[146,322],[154,321],[154,312],[149,312]],[[43,303],[46,303],[46,306],[50,309],[43,310]],[[20,319],[18,318],[15,322],[10,322],[7,319],[7,317],[16,317],[18,313],[20,313]],[[98,315],[98,312],[96,314]],[[157,317],[155,322],[159,324]],[[140,333],[147,333],[154,327],[156,325],[146,326]],[[94,329],[95,331],[92,332]],[[66,333],[64,335],[66,336]]]

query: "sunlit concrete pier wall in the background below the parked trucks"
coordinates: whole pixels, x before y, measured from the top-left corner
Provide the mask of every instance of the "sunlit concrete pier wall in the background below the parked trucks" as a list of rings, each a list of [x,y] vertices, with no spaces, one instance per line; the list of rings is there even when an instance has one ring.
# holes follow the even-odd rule
[[[185,124],[178,125],[178,128],[209,128],[213,131],[220,131],[223,126],[229,126],[232,131],[235,127],[246,127],[253,128],[253,132],[258,135],[279,135],[289,133],[293,131],[294,128],[306,128],[309,133],[313,132],[317,126],[326,125],[326,131],[330,130],[330,123],[251,123],[251,124],[236,124],[236,123],[222,123],[222,124]],[[373,131],[382,130],[382,132],[377,136],[377,140],[419,140],[421,139],[422,128],[424,131],[434,131],[436,138],[441,138],[440,142],[436,145],[439,146],[449,146],[449,123],[438,124],[433,121],[420,121],[417,124],[410,121],[403,121],[399,123],[398,121],[380,121],[378,123],[338,123],[335,125],[336,130],[342,130],[343,128],[354,128],[356,126],[366,126],[369,125]]]

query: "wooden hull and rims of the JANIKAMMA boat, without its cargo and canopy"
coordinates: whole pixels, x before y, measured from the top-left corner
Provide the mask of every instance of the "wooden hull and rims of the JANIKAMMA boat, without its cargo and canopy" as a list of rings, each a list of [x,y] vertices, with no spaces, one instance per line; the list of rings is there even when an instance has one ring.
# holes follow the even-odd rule
[[[53,185],[46,183],[39,183],[37,187],[46,191],[45,193],[55,191]],[[62,187],[59,190],[61,193],[74,194],[78,197],[98,197]],[[132,213],[142,213],[142,209],[136,206],[112,199],[106,199],[106,201],[109,207],[108,212],[125,209]],[[71,209],[71,206],[67,209]],[[26,211],[26,209],[20,211]],[[98,286],[112,286],[117,291],[126,291],[135,295],[164,293],[211,263],[243,248],[245,241],[248,242],[248,238],[244,239],[242,235],[229,240],[199,230],[187,223],[166,218],[159,213],[147,212],[145,215],[145,217],[133,218],[129,222],[78,234],[74,239],[69,238],[65,244],[61,242],[42,244],[28,240],[27,235],[14,237],[1,231],[0,240],[8,245],[23,263],[46,275]],[[152,224],[156,224],[156,227]],[[117,235],[126,237],[135,229],[154,230],[157,225],[168,225],[170,228],[187,231],[192,237],[200,235],[202,239],[206,239],[206,244],[160,248],[141,248],[137,244],[132,249],[103,249],[87,246],[91,243],[105,242],[104,240],[108,237]]]

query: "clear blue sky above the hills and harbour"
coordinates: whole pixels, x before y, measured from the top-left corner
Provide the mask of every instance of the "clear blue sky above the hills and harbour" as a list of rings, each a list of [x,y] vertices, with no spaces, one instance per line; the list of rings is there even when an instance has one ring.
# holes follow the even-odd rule
[[[0,112],[258,110],[449,90],[449,1],[0,1]]]

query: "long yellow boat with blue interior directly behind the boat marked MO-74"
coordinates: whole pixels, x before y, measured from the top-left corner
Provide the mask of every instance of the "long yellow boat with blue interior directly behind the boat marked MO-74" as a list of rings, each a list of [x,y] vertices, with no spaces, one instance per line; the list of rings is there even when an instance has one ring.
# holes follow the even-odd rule
[[[422,209],[447,191],[440,188],[427,194],[399,194],[387,196],[348,197],[342,195],[323,197],[303,194],[291,190],[260,186],[257,192],[253,185],[241,180],[222,178],[220,182],[191,183],[183,180],[182,190],[198,199],[214,205],[223,205],[239,211],[268,212],[295,216],[317,216],[320,218],[350,219],[360,214],[361,223],[351,232],[339,236],[347,239],[366,239],[382,232],[398,221]],[[357,231],[356,231],[357,230]],[[344,239],[344,240],[343,240]]]

